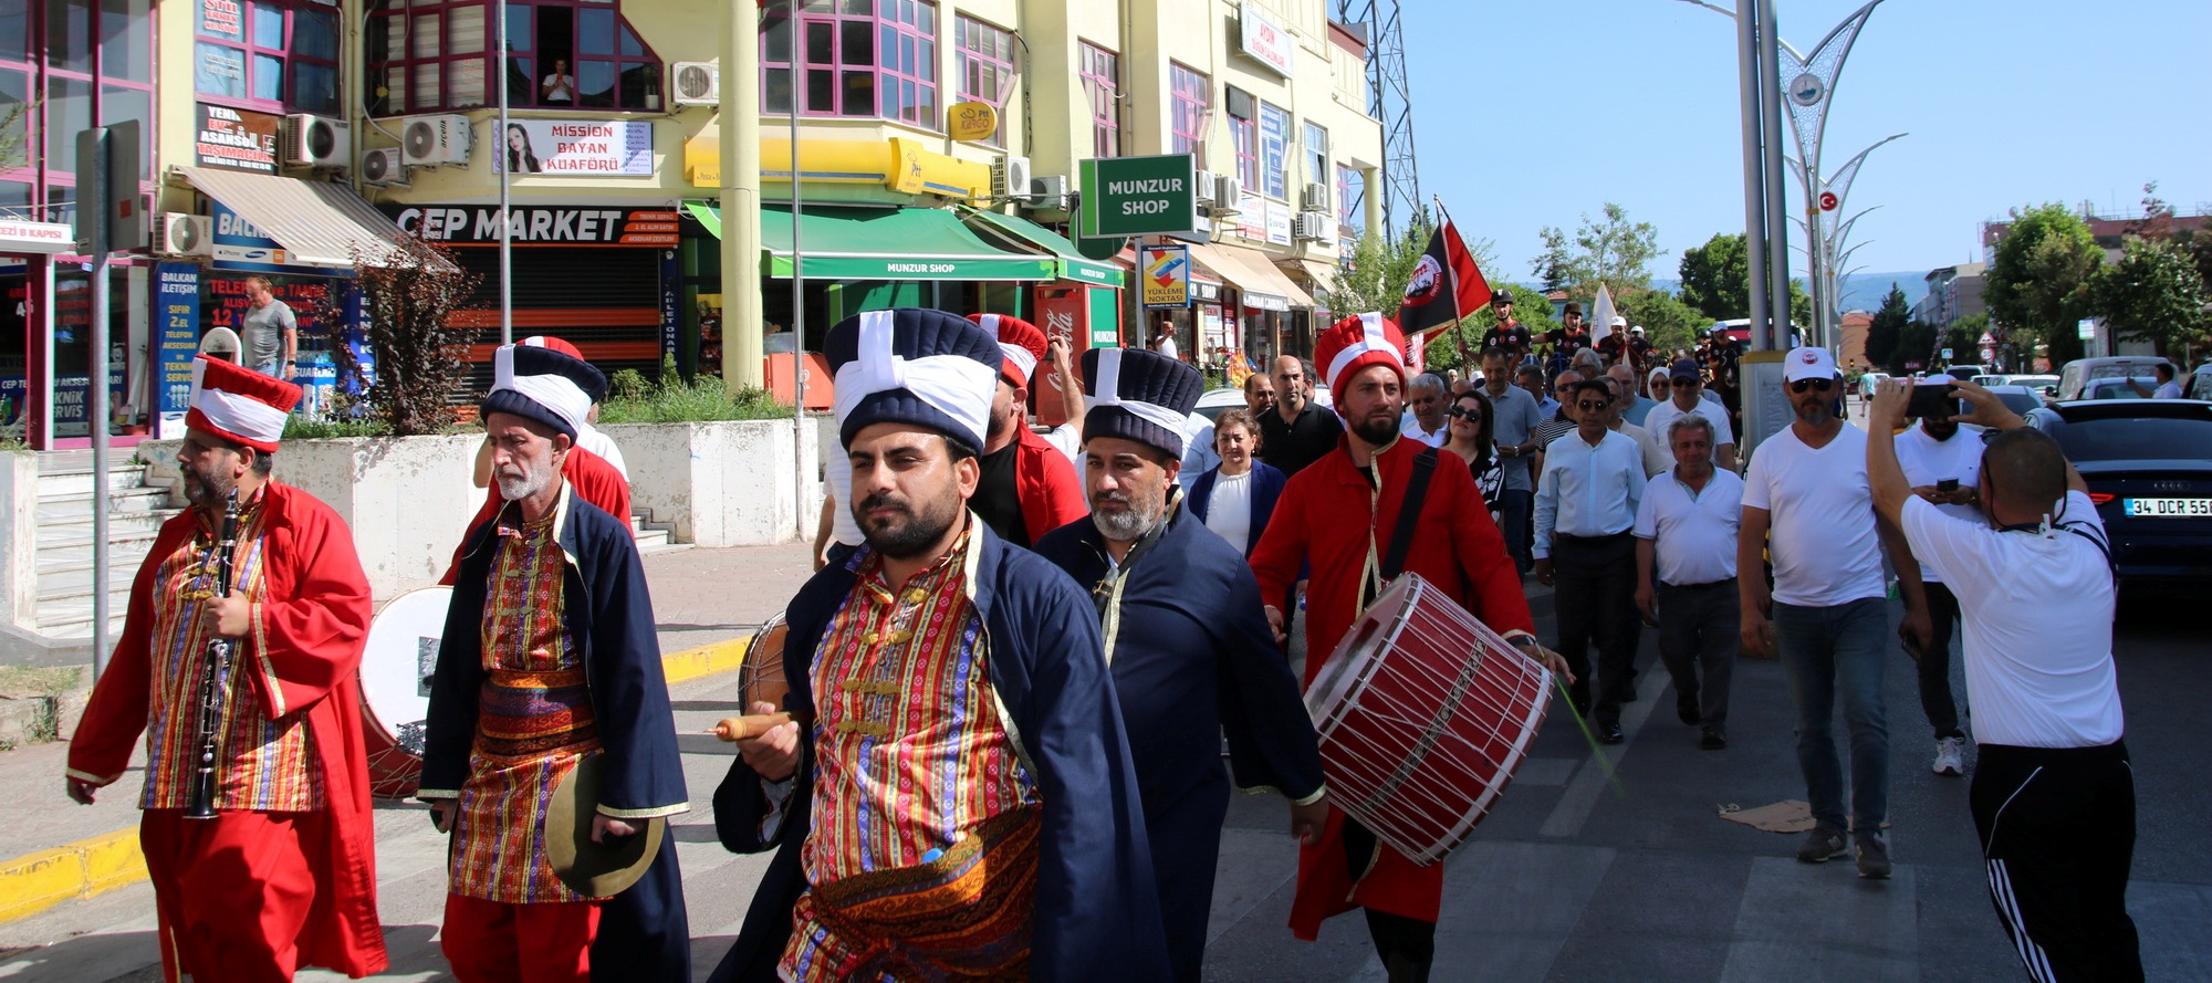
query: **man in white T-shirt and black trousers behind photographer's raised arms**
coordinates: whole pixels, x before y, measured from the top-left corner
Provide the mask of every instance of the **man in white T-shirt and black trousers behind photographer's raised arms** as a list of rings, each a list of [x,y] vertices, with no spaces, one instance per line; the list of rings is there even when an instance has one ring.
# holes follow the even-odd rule
[[[1940,376],[1938,376],[1940,379]],[[1898,434],[1898,463],[1913,496],[1936,505],[1947,516],[1982,522],[1980,474],[1982,441],[1960,432],[1949,412],[1922,416],[1920,425]],[[1964,775],[1962,746],[1966,731],[1958,726],[1958,700],[1951,697],[1951,631],[1958,627],[1958,596],[1944,587],[1927,560],[1920,562],[1920,584],[1929,596],[1929,640],[1920,651],[1907,646],[1920,666],[1920,711],[1936,728],[1936,775]]]

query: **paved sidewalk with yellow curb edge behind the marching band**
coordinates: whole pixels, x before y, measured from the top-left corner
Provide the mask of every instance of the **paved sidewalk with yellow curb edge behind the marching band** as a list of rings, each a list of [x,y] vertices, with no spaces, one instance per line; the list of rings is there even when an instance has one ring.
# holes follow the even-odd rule
[[[743,642],[812,573],[807,558],[803,542],[648,556],[668,684],[737,669]],[[137,846],[144,762],[133,757],[93,806],[64,795],[66,762],[69,742],[0,753],[0,788],[11,793],[0,799],[0,923],[146,877]]]

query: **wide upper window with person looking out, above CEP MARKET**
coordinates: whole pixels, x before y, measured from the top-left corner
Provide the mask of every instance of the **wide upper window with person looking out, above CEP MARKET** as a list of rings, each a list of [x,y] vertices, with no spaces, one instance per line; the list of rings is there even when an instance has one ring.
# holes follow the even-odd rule
[[[484,0],[372,0],[372,115],[476,108],[498,102],[489,58],[498,9]],[[507,4],[507,104],[659,111],[661,60],[613,2]]]

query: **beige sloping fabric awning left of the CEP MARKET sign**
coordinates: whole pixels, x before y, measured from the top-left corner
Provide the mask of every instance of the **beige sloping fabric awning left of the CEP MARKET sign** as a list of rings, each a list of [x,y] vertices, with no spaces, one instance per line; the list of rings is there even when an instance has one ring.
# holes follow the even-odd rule
[[[387,259],[387,244],[405,235],[347,184],[195,166],[173,170],[276,239],[288,252],[276,259],[281,266],[352,268],[356,246],[374,263]]]

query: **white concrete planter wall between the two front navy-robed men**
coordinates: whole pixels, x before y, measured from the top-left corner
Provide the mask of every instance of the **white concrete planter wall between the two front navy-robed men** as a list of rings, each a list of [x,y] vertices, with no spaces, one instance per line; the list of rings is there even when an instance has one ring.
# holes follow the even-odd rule
[[[624,423],[602,427],[630,465],[630,503],[675,525],[677,542],[759,547],[812,534],[821,514],[818,430],[807,421]],[[792,476],[805,476],[794,483]],[[803,485],[803,487],[801,487]]]

